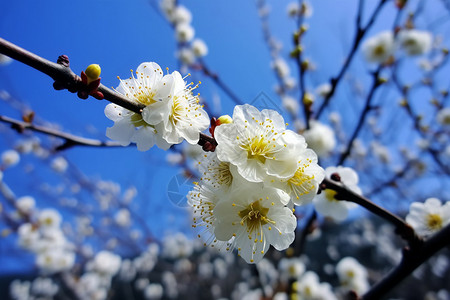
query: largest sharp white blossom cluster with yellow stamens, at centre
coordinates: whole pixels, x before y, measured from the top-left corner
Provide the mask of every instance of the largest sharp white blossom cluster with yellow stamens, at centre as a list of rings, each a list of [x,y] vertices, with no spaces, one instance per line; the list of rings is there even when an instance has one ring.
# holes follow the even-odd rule
[[[237,248],[256,263],[270,245],[283,250],[292,243],[293,205],[312,201],[324,171],[276,111],[246,104],[221,119],[216,152],[199,162],[201,179],[188,196],[194,226],[204,227],[207,244]]]

